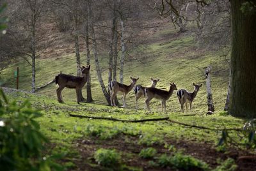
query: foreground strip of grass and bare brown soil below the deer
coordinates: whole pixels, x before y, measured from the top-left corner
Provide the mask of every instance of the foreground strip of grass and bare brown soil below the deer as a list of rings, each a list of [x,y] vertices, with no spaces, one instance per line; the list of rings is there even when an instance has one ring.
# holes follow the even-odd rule
[[[60,161],[68,170],[255,170],[255,152],[245,146],[228,145],[218,147],[221,130],[242,129],[246,119],[230,115],[198,115],[168,112],[149,114],[143,110],[107,107],[72,101],[64,104],[47,96],[35,95],[14,89],[4,88],[10,100],[18,103],[29,99],[32,106],[40,108],[43,114],[37,119],[41,131],[50,138],[47,148],[49,154],[63,153]],[[73,115],[91,118],[71,117]],[[168,117],[163,121],[127,123],[105,119],[140,120]],[[180,125],[175,122],[189,124]],[[216,130],[200,129],[207,127]],[[237,142],[241,141],[240,131],[228,131],[228,135]],[[154,148],[156,153],[148,158],[141,156],[141,151]],[[98,149],[115,149],[121,158],[115,166],[102,167],[95,161]],[[176,155],[176,166],[172,160]],[[179,155],[181,157],[179,158]],[[188,157],[189,156],[189,157]],[[184,164],[189,158],[191,165]],[[200,162],[201,164],[198,164]],[[188,160],[185,163],[189,163]],[[207,168],[200,168],[206,163]],[[237,166],[237,167],[236,167]],[[235,170],[235,169],[234,169]]]

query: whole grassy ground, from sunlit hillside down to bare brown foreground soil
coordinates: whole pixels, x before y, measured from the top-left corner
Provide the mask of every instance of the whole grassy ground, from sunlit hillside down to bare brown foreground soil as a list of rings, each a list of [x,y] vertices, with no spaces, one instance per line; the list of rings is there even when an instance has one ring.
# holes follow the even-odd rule
[[[232,117],[223,112],[229,71],[223,52],[204,49],[196,44],[191,33],[180,34],[170,23],[161,24],[162,26],[148,34],[148,39],[145,40],[146,45],[141,45],[129,52],[129,59],[125,61],[124,83],[131,82],[129,80],[131,75],[140,77],[137,83],[146,86],[150,85],[150,77],[160,78],[157,87],[161,89],[167,89],[168,82],[175,82],[178,89],[185,88],[188,91],[193,91],[193,82],[203,84],[193,101],[192,114],[180,113],[176,92],[167,101],[167,114],[161,112],[158,100],[150,101],[153,113],[144,110],[136,111],[133,91],[127,95],[128,107],[126,109],[108,107],[97,79],[93,58],[90,71],[94,100],[92,104],[77,105],[74,89],[64,89],[65,103],[58,103],[55,84],[41,89],[36,94],[28,93],[27,91],[31,90],[31,66],[24,60],[10,64],[1,70],[0,75],[5,87],[14,88],[13,72],[14,68],[19,66],[20,89],[24,92],[13,89],[4,90],[11,100],[20,103],[29,99],[33,107],[42,110],[43,116],[37,120],[42,133],[51,140],[47,152],[65,154],[60,162],[68,170],[212,170],[215,168],[216,170],[256,170],[255,149],[249,151],[246,145],[238,147],[236,145],[236,143],[245,144],[243,132],[228,131],[228,136],[236,143],[229,141],[228,145],[217,146],[223,135],[222,130],[242,129],[244,123],[248,121],[248,119]],[[58,34],[49,34],[49,36],[57,36],[57,40],[62,42]],[[68,47],[72,48],[72,45],[61,44],[57,48],[59,54],[50,49],[47,51],[49,53],[47,56],[36,59],[37,87],[53,80],[60,71],[76,75],[74,49],[70,51],[66,49]],[[66,50],[63,51],[63,48]],[[83,52],[81,61],[83,64],[86,63],[86,56]],[[106,52],[99,53],[99,61],[102,78],[107,84]],[[202,73],[210,64],[212,65],[212,96],[216,111],[213,115],[205,115],[207,94],[205,77]],[[83,89],[83,94],[85,97],[85,89]],[[118,100],[122,101],[120,99],[121,97],[118,96]],[[143,102],[141,98],[140,109],[144,106]],[[70,117],[70,114],[91,118]],[[163,117],[168,117],[168,119],[127,123],[93,119],[93,117],[123,120]],[[150,147],[153,148],[153,150],[150,149],[151,153],[148,150]],[[95,152],[101,148],[116,149],[115,152],[121,156],[114,167],[102,167],[95,160]],[[151,155],[148,154],[150,157],[145,158],[147,151]]]

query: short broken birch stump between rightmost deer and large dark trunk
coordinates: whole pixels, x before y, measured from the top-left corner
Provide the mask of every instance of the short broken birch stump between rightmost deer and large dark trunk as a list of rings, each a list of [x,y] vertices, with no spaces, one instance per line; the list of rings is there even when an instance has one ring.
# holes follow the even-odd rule
[[[214,105],[212,101],[212,90],[211,90],[211,70],[212,70],[212,66],[208,66],[207,69],[205,70],[205,78],[206,78],[208,111],[214,112]]]

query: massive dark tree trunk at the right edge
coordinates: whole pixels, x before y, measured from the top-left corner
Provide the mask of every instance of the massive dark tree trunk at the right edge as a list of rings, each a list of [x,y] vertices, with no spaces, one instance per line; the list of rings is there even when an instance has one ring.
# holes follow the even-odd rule
[[[243,13],[246,0],[232,0],[231,96],[228,112],[256,117],[256,13]],[[248,9],[247,9],[248,10]]]

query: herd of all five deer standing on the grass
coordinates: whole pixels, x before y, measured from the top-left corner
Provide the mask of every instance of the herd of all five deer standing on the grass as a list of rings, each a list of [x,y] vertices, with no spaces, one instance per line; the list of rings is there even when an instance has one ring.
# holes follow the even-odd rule
[[[63,103],[63,99],[61,96],[61,91],[67,87],[70,89],[76,89],[76,96],[77,96],[77,103],[84,100],[82,95],[82,88],[86,84],[88,80],[88,76],[90,74],[90,65],[89,66],[78,66],[81,70],[81,77],[76,77],[72,75],[66,75],[63,73],[60,73],[59,75],[56,75],[55,77],[55,83],[58,84],[58,89],[56,90],[58,101],[60,103]],[[162,112],[164,108],[164,112],[166,112],[166,101],[172,96],[173,91],[177,90],[177,86],[174,84],[174,82],[169,83],[170,88],[169,91],[165,91],[163,89],[157,89],[156,85],[157,82],[159,82],[160,79],[153,79],[150,78],[152,85],[150,87],[143,87],[142,85],[136,85],[136,82],[140,79],[138,78],[131,78],[131,84],[125,85],[120,84],[117,81],[111,81],[108,84],[108,89],[110,93],[110,102],[111,106],[116,106],[115,97],[116,94],[122,94],[123,96],[123,106],[127,107],[126,105],[126,96],[127,94],[133,89],[135,94],[135,101],[136,101],[136,110],[138,110],[138,99],[139,98],[145,98],[145,107],[144,110],[147,108],[148,111],[151,112],[149,107],[149,102],[153,98],[156,98],[157,100],[161,101],[162,105]],[[192,93],[188,92],[186,89],[179,89],[177,91],[177,98],[180,103],[181,111],[184,112],[184,104],[186,105],[186,110],[188,111],[188,103],[190,107],[192,107],[192,102],[196,97],[196,94],[198,93],[200,87],[202,87],[202,84],[198,85],[193,83],[195,89]]]

